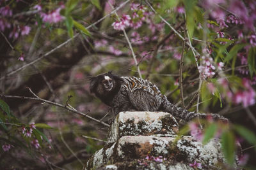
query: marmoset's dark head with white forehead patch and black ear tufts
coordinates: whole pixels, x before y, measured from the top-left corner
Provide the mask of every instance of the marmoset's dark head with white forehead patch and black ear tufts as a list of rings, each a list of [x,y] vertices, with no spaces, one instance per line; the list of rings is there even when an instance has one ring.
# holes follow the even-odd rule
[[[106,96],[114,92],[119,81],[122,81],[122,78],[115,76],[111,72],[99,74],[90,79],[90,92],[93,92],[98,97]]]

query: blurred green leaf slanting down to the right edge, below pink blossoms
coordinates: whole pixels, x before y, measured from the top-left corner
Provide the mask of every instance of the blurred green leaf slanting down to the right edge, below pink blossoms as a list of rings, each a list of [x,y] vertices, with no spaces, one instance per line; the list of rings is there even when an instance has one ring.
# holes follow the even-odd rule
[[[252,131],[250,131],[249,129],[246,129],[241,125],[234,125],[234,128],[239,135],[241,135],[244,139],[246,139],[246,141],[256,146],[256,135]],[[255,150],[256,150],[256,147],[255,147]]]

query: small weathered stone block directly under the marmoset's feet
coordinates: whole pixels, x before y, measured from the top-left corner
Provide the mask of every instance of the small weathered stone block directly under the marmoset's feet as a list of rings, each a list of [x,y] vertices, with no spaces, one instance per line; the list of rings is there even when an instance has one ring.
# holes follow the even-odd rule
[[[108,143],[122,136],[177,134],[179,125],[170,113],[150,111],[120,112],[111,125]]]

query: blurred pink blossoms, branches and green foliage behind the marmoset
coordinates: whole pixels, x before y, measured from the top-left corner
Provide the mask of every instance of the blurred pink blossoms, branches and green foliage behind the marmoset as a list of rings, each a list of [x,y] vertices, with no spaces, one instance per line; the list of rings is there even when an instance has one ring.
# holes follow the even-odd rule
[[[0,6],[2,95],[35,97],[29,87],[64,105],[72,96],[73,108],[108,123],[111,110],[90,94],[92,76],[138,77],[138,62],[142,78],[182,106],[183,54],[185,106],[195,111],[199,103],[200,112],[241,125],[223,131],[226,155],[232,158],[236,148],[227,143],[239,141],[241,165],[255,167],[255,1],[1,0]],[[104,145],[82,135],[106,141],[107,127],[51,104],[2,96],[0,108],[3,169],[81,169]],[[212,138],[217,130],[209,129]]]

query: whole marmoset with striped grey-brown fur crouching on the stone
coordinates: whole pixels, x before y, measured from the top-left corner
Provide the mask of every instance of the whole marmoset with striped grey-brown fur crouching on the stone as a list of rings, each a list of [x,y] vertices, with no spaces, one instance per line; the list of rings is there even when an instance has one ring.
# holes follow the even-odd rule
[[[209,116],[228,122],[227,118],[220,115],[189,112],[173,105],[156,85],[141,78],[119,77],[111,72],[99,74],[90,79],[90,92],[113,108],[115,115],[120,111],[166,111],[186,122],[196,117]]]

